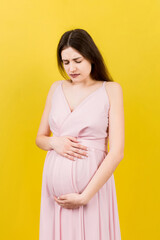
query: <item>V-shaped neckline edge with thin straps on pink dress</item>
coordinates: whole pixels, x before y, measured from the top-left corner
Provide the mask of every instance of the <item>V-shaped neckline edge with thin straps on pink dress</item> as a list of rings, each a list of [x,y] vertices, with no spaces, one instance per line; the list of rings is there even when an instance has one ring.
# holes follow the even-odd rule
[[[62,95],[63,95],[63,98],[64,98],[64,101],[66,103],[66,106],[69,110],[69,113],[70,114],[73,114],[82,104],[84,104],[91,96],[93,96],[96,92],[98,92],[101,88],[103,88],[103,85],[104,85],[104,82],[102,83],[102,86],[100,86],[99,88],[97,88],[96,90],[94,90],[92,93],[90,93],[87,97],[85,97],[72,111],[71,111],[71,108],[69,106],[69,103],[68,103],[68,100],[64,94],[64,91],[63,91],[63,87],[62,87],[62,83],[64,82],[64,80],[61,81],[60,83],[60,87],[61,87],[61,92],[62,92]]]

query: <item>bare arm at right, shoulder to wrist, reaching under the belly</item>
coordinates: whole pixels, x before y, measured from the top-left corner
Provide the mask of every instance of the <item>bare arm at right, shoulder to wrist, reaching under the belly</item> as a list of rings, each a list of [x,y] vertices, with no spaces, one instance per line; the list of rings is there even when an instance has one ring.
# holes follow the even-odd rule
[[[95,175],[82,192],[82,201],[87,203],[107,182],[124,156],[124,109],[123,93],[119,83],[108,85],[109,110],[109,153],[97,169]]]

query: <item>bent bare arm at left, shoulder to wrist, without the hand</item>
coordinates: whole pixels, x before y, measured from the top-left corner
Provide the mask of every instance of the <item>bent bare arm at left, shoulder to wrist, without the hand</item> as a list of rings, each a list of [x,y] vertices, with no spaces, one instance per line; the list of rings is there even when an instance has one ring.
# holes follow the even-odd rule
[[[39,126],[38,133],[37,133],[36,140],[35,140],[36,145],[39,148],[46,150],[46,151],[53,149],[52,141],[54,139],[54,136],[51,137],[51,131],[50,131],[49,123],[48,123],[48,117],[49,117],[49,112],[50,112],[50,108],[51,108],[51,98],[52,98],[53,92],[55,91],[58,84],[59,84],[59,81],[56,81],[50,87],[50,90],[49,90],[49,93],[48,93],[47,99],[46,99],[45,108],[44,108],[44,111],[42,114],[40,126]]]

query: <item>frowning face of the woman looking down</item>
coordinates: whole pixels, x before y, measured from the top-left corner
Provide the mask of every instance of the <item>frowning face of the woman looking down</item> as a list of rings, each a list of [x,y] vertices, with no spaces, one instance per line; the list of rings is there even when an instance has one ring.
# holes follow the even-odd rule
[[[68,47],[61,52],[64,69],[72,81],[91,79],[91,63],[76,49]]]

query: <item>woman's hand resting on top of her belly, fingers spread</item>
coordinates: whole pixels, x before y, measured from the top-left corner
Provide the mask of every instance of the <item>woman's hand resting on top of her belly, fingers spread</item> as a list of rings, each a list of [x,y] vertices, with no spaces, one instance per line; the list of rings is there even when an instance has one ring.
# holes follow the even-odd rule
[[[78,143],[72,136],[51,137],[52,148],[64,157],[75,161],[76,158],[85,158],[88,156],[87,147]]]

